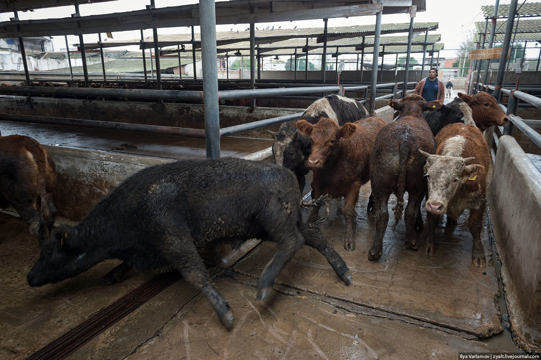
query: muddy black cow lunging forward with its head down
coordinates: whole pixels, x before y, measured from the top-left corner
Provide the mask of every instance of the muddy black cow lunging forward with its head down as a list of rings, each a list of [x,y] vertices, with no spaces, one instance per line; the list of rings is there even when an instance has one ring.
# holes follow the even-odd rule
[[[57,228],[28,273],[28,283],[56,283],[108,258],[135,269],[174,267],[207,296],[230,329],[233,313],[212,285],[200,248],[239,246],[254,237],[275,241],[257,299],[271,292],[302,244],[316,248],[350,282],[351,272],[327,239],[302,224],[299,205],[293,174],[273,164],[222,158],[149,167],[113,189],[77,226]]]

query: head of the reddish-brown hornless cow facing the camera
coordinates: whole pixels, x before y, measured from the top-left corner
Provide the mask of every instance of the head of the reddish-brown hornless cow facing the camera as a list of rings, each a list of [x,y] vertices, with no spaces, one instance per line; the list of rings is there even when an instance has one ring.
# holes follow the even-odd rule
[[[340,140],[349,139],[357,131],[357,125],[348,122],[340,127],[327,117],[312,125],[306,120],[297,121],[299,133],[312,140],[308,166],[322,168],[326,161],[333,161],[340,153]]]

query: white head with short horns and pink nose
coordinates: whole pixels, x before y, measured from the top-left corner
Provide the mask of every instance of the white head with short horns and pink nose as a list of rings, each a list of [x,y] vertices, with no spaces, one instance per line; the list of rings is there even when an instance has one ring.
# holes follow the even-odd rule
[[[465,182],[475,180],[484,167],[478,164],[467,165],[474,158],[460,156],[432,155],[419,149],[425,155],[425,178],[428,183],[426,210],[442,215],[447,211],[449,200]]]

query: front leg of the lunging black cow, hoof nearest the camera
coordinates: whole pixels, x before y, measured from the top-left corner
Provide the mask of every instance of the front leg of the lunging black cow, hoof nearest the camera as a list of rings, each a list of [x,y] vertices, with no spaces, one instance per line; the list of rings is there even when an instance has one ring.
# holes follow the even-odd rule
[[[166,235],[161,239],[161,244],[170,244],[171,248],[166,250],[171,265],[175,266],[182,277],[206,296],[214,307],[214,311],[220,318],[227,330],[233,326],[233,311],[227,304],[227,300],[216,290],[208,272],[204,267],[203,259],[193,246],[193,239],[188,234],[182,237],[177,235]],[[182,246],[185,244],[184,246]],[[186,246],[187,245],[187,246]]]

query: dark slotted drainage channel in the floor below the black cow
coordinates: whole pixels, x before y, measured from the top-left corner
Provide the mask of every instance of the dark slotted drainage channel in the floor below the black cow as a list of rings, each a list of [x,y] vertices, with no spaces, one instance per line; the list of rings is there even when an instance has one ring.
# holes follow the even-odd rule
[[[96,312],[92,317],[67,331],[64,335],[43,346],[25,360],[66,358],[180,278],[180,273],[177,271],[155,276],[113,304]]]

